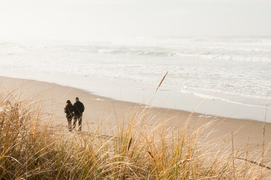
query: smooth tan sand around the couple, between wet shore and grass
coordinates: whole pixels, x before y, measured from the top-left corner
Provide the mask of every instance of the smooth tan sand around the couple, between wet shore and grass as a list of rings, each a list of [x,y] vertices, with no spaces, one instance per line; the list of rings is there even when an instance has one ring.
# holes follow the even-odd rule
[[[129,113],[129,111],[134,111],[135,109],[138,109],[138,111],[146,111],[145,105],[111,100],[109,98],[93,95],[77,88],[41,81],[1,77],[2,90],[3,88],[8,90],[15,89],[17,87],[19,88],[15,93],[21,94],[22,98],[27,99],[36,96],[43,99],[44,112],[54,114],[54,121],[52,121],[52,124],[55,126],[67,126],[64,106],[68,99],[75,102],[75,97],[79,97],[79,100],[85,106],[82,121],[84,131],[87,131],[90,126],[95,127],[95,125],[101,121],[106,121],[105,126],[108,126],[108,128],[115,126],[120,122],[121,118],[123,118],[125,114]],[[188,111],[155,107],[151,108],[150,111],[151,113],[147,115],[148,121],[146,121],[150,126],[159,123],[165,118],[170,118],[170,126],[176,126],[177,124],[182,126],[191,114],[191,112]],[[212,139],[223,137],[226,134],[230,135],[231,131],[233,131],[233,139],[236,146],[246,145],[249,136],[249,146],[262,148],[263,122],[251,121],[250,124],[249,120],[225,117],[210,118],[208,115],[205,115],[206,117],[199,117],[201,115],[202,114],[193,113],[189,123],[190,125],[193,125],[199,121],[208,123],[211,120],[216,120],[209,128],[205,129],[205,133],[209,133],[209,131],[214,129],[214,132],[211,133],[208,138]],[[271,124],[266,123],[264,144],[270,143],[270,132]],[[267,153],[265,159],[268,159],[269,157],[271,157],[270,153]]]

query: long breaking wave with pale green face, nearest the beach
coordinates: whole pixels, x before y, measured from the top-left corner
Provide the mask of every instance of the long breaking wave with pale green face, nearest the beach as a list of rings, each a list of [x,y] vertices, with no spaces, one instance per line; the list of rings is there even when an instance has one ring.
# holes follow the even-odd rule
[[[14,54],[16,51],[28,51],[30,48],[52,49],[57,52],[85,52],[85,53],[104,53],[104,54],[124,54],[134,56],[157,56],[157,57],[184,57],[196,59],[214,59],[214,60],[234,60],[234,61],[254,61],[254,62],[271,62],[271,50],[261,48],[243,48],[243,47],[219,47],[219,46],[182,46],[178,48],[146,48],[146,47],[118,47],[104,48],[100,46],[51,46],[46,44],[15,44],[11,42],[1,42],[0,47],[15,46],[9,53]],[[16,49],[17,48],[17,49]],[[1,48],[2,49],[2,48]],[[249,53],[244,53],[249,52]],[[4,54],[5,54],[4,53]],[[10,54],[10,55],[11,55]],[[3,53],[2,53],[3,55]],[[9,54],[7,54],[9,55]]]

